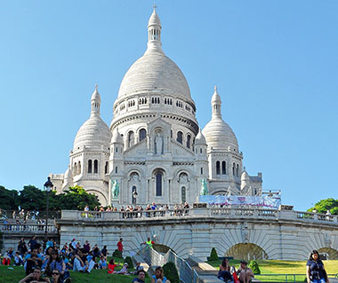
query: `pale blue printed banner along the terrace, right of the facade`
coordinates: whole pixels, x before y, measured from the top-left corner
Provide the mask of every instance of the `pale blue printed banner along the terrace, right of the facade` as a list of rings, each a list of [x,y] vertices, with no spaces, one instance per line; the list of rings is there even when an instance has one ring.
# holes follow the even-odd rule
[[[239,196],[239,195],[200,195],[199,202],[206,202],[211,205],[249,205],[261,208],[278,209],[281,203],[279,197],[254,197],[254,196]]]

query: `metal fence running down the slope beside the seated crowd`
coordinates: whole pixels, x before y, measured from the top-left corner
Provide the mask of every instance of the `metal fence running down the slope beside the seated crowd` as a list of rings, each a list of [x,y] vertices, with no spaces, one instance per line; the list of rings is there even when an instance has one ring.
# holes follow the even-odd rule
[[[180,281],[184,283],[197,282],[197,273],[194,271],[189,263],[187,263],[181,256],[173,253],[172,250],[166,252],[165,255],[157,253],[153,248],[141,248],[141,256],[149,263],[149,266],[163,266],[165,263],[172,262],[175,264],[180,276]]]

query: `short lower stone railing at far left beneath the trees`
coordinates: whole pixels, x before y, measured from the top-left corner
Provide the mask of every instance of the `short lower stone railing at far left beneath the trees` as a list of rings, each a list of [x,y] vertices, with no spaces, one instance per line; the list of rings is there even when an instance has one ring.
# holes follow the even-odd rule
[[[45,232],[45,224],[0,224],[1,232],[3,233],[44,233]],[[58,229],[53,224],[47,225],[48,233],[57,233]]]

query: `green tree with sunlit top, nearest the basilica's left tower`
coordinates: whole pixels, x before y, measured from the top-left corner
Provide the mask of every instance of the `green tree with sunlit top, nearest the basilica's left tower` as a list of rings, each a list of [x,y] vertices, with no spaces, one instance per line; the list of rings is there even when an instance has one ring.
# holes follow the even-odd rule
[[[93,210],[101,205],[96,195],[85,192],[84,188],[79,185],[69,187],[67,193],[60,193],[55,197],[59,209],[83,210],[85,206],[89,206]]]

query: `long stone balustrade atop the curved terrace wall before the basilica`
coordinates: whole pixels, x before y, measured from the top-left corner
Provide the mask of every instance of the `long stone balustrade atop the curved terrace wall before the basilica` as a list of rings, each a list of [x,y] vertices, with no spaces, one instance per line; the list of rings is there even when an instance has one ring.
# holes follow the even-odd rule
[[[236,219],[278,219],[302,220],[311,223],[338,224],[338,216],[302,212],[294,210],[278,210],[263,208],[189,208],[189,209],[157,209],[141,211],[76,211],[62,210],[61,219],[80,221],[111,221],[111,220],[149,220],[149,219],[174,219],[179,217],[216,217]]]

